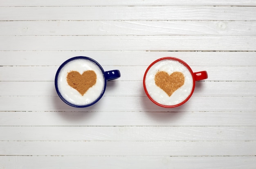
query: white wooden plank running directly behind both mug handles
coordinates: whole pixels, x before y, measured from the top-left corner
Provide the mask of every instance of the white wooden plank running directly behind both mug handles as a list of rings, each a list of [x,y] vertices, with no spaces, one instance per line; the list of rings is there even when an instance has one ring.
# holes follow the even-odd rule
[[[123,60],[124,61],[124,60]],[[118,69],[115,81],[142,81],[147,66],[103,66],[105,71]],[[256,81],[256,66],[191,66],[194,72],[206,70],[205,81]],[[0,81],[54,81],[58,66],[0,66]],[[118,83],[118,82],[117,82]]]

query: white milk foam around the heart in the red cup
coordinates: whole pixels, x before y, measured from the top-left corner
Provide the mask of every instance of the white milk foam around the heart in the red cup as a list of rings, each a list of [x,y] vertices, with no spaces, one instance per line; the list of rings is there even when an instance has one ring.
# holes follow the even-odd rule
[[[171,75],[173,72],[182,72],[185,77],[184,85],[169,97],[164,90],[155,84],[155,75],[158,71],[165,71],[168,75]],[[177,105],[191,94],[193,77],[186,66],[179,61],[164,59],[150,67],[146,74],[145,84],[148,94],[157,103],[162,105]]]

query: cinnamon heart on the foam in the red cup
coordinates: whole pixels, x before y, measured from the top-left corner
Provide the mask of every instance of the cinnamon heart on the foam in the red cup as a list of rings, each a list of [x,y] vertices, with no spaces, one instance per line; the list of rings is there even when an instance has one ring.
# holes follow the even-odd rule
[[[159,71],[155,75],[155,84],[164,90],[170,97],[173,92],[184,85],[185,77],[182,72],[173,72],[168,75],[167,72]]]

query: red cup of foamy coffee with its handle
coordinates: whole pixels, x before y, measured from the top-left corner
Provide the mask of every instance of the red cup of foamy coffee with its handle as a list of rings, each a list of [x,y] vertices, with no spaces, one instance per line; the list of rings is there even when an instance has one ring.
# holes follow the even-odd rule
[[[206,71],[193,72],[184,61],[163,57],[148,66],[143,86],[153,103],[164,108],[174,108],[189,100],[195,89],[195,81],[207,78]]]

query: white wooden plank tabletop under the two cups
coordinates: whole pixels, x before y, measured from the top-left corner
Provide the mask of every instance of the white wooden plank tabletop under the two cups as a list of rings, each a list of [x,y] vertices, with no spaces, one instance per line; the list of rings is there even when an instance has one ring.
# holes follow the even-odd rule
[[[104,97],[56,94],[74,56],[119,69]],[[147,66],[177,57],[209,78],[153,104]],[[0,0],[0,169],[255,169],[255,0]]]

